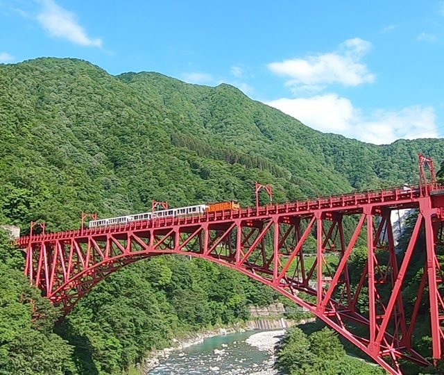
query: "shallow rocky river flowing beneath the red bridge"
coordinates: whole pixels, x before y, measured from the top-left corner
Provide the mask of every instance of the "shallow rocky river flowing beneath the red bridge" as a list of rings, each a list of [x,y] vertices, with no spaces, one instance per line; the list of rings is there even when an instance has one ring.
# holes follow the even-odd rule
[[[207,338],[172,351],[147,375],[275,375],[272,355],[284,331],[249,331]]]

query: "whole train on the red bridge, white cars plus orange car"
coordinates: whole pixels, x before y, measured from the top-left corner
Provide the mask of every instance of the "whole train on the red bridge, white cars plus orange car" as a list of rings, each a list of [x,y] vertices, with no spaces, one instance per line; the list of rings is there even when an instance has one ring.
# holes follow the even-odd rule
[[[240,205],[237,201],[225,201],[218,203],[198,204],[196,206],[187,206],[180,208],[167,208],[166,210],[152,210],[149,213],[139,213],[135,215],[126,215],[119,217],[110,217],[108,219],[97,219],[89,222],[89,228],[97,228],[101,226],[114,226],[127,224],[131,222],[139,222],[142,220],[151,220],[160,217],[178,217],[188,215],[203,215],[204,213],[212,213],[223,210],[239,210]]]

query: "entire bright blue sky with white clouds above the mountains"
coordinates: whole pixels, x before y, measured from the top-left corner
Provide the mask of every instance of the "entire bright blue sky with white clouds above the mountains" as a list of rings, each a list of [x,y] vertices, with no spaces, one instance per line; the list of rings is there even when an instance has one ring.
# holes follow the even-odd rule
[[[230,83],[321,131],[444,136],[444,1],[0,0],[0,63]]]

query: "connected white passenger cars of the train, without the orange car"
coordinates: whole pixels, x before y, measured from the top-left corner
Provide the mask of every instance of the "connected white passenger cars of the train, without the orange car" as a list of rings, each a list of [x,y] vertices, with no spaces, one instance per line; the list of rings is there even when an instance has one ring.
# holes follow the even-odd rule
[[[202,215],[208,209],[205,204],[196,206],[169,208],[168,210],[154,211],[153,213],[140,213],[136,215],[127,215],[119,217],[110,217],[109,219],[98,219],[89,222],[89,228],[97,228],[99,226],[114,226],[128,224],[130,222],[139,222],[142,220],[151,220],[160,217],[176,217],[187,215]]]

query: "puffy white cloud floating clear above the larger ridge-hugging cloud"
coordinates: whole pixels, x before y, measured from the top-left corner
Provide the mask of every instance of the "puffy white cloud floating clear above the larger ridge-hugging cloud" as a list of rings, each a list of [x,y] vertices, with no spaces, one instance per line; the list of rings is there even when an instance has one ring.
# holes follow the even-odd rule
[[[348,39],[334,52],[315,54],[305,58],[293,58],[268,64],[273,73],[289,77],[287,85],[326,85],[341,83],[357,86],[375,81],[375,74],[369,72],[361,58],[371,49],[370,42]]]

